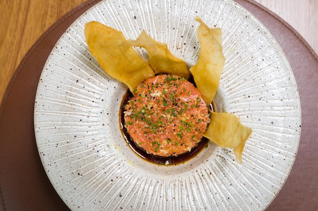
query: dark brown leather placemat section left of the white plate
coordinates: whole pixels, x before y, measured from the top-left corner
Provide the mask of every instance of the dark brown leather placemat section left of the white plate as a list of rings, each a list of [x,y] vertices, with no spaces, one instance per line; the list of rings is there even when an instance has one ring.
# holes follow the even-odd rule
[[[70,210],[42,166],[34,133],[39,78],[52,48],[67,28],[100,0],[90,0],[54,23],[29,49],[7,88],[0,110],[0,202],[2,211]]]

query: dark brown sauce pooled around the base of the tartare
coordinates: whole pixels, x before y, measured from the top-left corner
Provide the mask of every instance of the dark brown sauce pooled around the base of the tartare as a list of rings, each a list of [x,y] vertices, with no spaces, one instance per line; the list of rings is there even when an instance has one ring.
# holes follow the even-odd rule
[[[193,77],[190,76],[188,79],[190,82],[194,83]],[[194,157],[196,157],[202,150],[203,148],[207,147],[207,144],[209,140],[205,137],[201,139],[201,141],[192,148],[190,152],[183,153],[178,156],[169,156],[169,157],[162,157],[162,156],[154,156],[152,154],[148,154],[143,148],[138,146],[130,136],[129,132],[126,130],[124,127],[125,125],[125,120],[124,120],[124,111],[125,111],[125,105],[128,103],[128,101],[133,97],[133,94],[129,91],[126,92],[126,94],[123,96],[122,101],[121,101],[121,106],[119,110],[119,118],[120,118],[120,128],[122,131],[122,134],[124,136],[124,139],[126,143],[131,147],[131,149],[140,157],[145,159],[148,162],[159,164],[159,165],[176,165],[180,163],[184,163],[185,161],[188,161]],[[213,103],[210,105],[210,109],[213,109]]]

